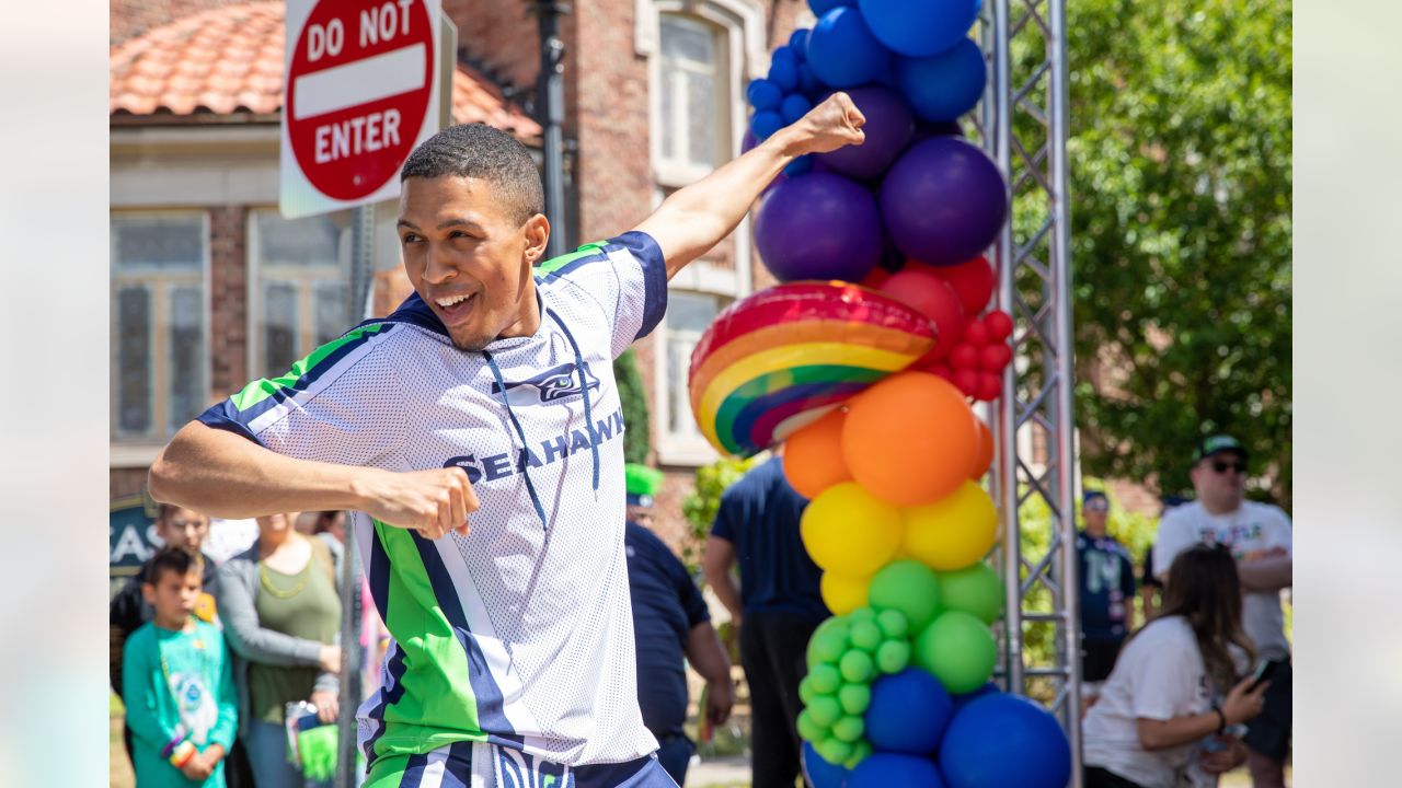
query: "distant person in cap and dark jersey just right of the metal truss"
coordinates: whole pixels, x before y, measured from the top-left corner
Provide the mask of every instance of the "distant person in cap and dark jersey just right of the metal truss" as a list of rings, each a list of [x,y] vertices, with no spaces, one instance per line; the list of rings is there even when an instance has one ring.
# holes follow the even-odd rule
[[[1085,530],[1075,537],[1081,579],[1081,680],[1095,686],[1115,667],[1120,645],[1133,627],[1134,559],[1106,533],[1110,501],[1092,489],[1081,501]]]

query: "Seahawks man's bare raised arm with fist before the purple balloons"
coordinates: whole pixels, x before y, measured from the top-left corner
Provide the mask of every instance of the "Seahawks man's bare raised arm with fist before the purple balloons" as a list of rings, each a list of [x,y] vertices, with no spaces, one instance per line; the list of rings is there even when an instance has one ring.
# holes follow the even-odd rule
[[[845,93],[834,93],[754,150],[669,196],[637,230],[658,241],[672,279],[729,236],[785,165],[809,153],[862,144],[865,122]]]

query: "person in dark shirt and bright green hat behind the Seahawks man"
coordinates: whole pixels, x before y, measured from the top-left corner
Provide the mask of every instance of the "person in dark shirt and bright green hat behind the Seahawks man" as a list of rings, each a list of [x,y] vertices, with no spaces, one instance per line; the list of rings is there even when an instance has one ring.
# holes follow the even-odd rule
[[[711,613],[687,568],[646,526],[652,524],[652,494],[660,474],[628,466],[628,590],[632,634],[638,651],[638,707],[642,724],[658,738],[662,768],[683,785],[695,745],[681,729],[687,718],[687,672],[683,658],[707,680],[705,708],[711,725],[730,715],[735,693],[730,658],[711,627]],[[653,475],[656,474],[656,475]]]

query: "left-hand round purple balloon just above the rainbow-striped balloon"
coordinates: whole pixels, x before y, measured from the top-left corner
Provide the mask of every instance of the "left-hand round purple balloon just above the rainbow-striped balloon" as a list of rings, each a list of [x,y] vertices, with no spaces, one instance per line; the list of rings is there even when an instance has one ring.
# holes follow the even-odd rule
[[[754,217],[754,244],[780,282],[861,282],[880,259],[880,213],[859,184],[813,171],[770,191]]]

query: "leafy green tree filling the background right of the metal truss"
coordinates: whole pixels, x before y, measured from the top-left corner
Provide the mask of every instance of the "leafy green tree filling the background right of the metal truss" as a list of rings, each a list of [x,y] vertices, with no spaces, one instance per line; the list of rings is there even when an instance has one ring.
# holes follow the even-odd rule
[[[1183,492],[1196,440],[1230,432],[1288,506],[1290,4],[1071,0],[1067,21],[1084,467]]]

